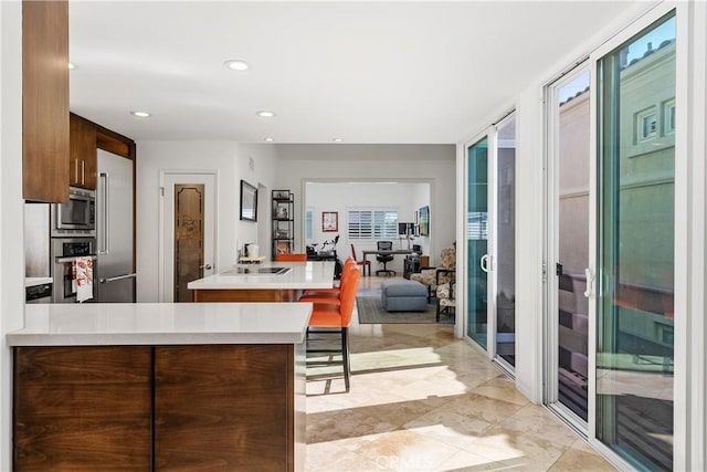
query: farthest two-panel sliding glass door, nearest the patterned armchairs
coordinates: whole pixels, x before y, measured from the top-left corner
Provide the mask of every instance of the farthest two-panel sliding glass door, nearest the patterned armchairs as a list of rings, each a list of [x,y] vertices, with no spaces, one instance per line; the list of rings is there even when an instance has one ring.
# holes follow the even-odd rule
[[[507,370],[516,364],[516,120],[466,149],[466,334]]]

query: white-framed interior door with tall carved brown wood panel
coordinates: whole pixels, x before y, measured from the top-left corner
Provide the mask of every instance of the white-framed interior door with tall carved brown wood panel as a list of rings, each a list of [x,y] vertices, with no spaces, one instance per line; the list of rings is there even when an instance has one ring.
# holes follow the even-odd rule
[[[163,172],[160,301],[191,302],[186,285],[215,273],[215,174]]]

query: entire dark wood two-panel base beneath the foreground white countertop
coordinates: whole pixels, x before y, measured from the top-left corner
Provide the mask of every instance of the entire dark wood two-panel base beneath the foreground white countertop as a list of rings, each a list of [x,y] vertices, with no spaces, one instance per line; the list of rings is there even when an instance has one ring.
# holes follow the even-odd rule
[[[15,347],[13,470],[299,470],[303,349]]]

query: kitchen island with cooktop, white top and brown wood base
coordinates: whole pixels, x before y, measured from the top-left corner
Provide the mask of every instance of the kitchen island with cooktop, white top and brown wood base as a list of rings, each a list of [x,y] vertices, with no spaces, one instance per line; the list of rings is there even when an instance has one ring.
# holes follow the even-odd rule
[[[330,289],[334,261],[239,264],[189,282],[194,302],[294,302],[304,290]]]

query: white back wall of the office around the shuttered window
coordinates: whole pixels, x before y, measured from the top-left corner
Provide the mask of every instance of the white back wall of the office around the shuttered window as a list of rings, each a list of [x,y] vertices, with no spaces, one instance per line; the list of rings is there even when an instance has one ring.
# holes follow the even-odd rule
[[[330,241],[339,234],[340,239],[337,244],[337,254],[344,260],[351,255],[350,244],[356,247],[356,255],[360,260],[363,250],[374,250],[376,241],[349,241],[347,237],[348,211],[352,208],[386,209],[397,210],[398,220],[401,222],[412,222],[413,213],[422,204],[429,204],[430,185],[429,183],[370,183],[370,182],[308,182],[306,185],[305,206],[314,210],[313,219],[313,241],[321,248],[324,241]],[[337,232],[321,231],[321,212],[338,212]],[[393,238],[393,249],[408,249],[405,239]],[[415,238],[410,241],[412,244],[422,244],[423,250],[429,247],[429,238]],[[331,249],[330,247],[328,247]],[[388,263],[388,269],[398,271],[399,275],[403,270],[403,255],[394,256],[393,261]],[[369,256],[376,263],[374,258]],[[376,266],[373,266],[376,270]]]

